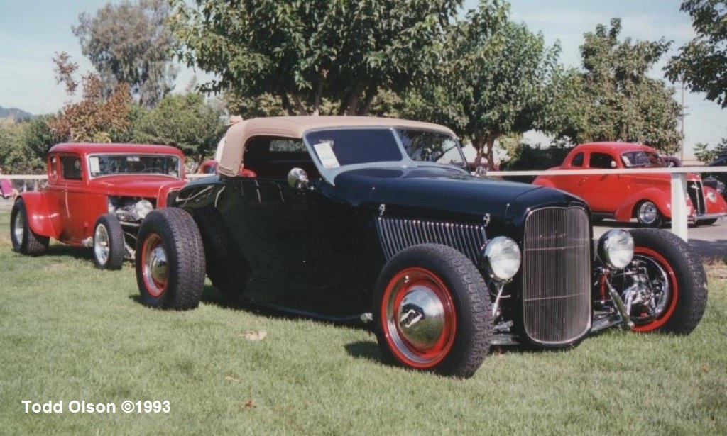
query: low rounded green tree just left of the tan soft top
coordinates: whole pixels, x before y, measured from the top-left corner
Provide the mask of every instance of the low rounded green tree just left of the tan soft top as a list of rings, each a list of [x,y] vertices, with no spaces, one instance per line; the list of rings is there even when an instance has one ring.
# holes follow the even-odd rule
[[[134,141],[172,145],[198,162],[214,152],[225,133],[222,108],[207,104],[198,93],[164,97],[135,128]]]

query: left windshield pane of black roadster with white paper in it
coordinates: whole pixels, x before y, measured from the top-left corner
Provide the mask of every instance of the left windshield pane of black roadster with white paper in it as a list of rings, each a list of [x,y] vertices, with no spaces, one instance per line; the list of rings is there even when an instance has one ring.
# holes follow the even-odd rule
[[[305,140],[325,168],[403,159],[394,133],[389,129],[313,131],[305,135]]]

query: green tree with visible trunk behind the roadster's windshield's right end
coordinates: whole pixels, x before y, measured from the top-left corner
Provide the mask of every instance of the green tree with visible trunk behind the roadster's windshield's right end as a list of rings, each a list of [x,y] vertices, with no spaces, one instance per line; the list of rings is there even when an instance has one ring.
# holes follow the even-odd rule
[[[458,22],[443,50],[437,75],[407,96],[403,112],[435,120],[471,139],[479,165],[494,165],[494,141],[535,127],[559,48],[541,34],[507,21],[509,8],[481,1]]]

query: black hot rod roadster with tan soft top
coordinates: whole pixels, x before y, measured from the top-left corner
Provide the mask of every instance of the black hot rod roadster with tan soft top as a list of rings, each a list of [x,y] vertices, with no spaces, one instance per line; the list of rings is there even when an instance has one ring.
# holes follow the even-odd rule
[[[430,123],[238,123],[217,175],[142,222],[142,300],[195,308],[209,276],[253,305],[372,322],[387,361],[454,377],[474,374],[491,345],[561,348],[616,325],[688,334],[699,323],[707,281],[686,242],[613,229],[593,244],[583,200],[473,176],[459,158],[454,133]]]

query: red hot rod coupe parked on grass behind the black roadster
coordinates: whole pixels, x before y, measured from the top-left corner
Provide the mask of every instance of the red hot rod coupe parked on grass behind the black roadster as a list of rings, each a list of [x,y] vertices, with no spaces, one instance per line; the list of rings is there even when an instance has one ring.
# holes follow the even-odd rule
[[[47,188],[23,192],[10,215],[15,251],[40,255],[49,239],[92,247],[98,268],[134,259],[145,216],[185,184],[182,152],[164,145],[58,144],[47,157]]]

